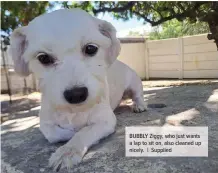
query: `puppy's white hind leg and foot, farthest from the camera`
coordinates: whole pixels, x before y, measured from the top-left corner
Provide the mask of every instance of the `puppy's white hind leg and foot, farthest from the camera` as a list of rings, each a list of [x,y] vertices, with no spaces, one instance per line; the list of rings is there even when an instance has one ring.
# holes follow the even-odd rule
[[[144,101],[142,81],[135,73],[132,74],[128,89],[131,91],[133,111],[140,113],[147,110],[147,103]]]

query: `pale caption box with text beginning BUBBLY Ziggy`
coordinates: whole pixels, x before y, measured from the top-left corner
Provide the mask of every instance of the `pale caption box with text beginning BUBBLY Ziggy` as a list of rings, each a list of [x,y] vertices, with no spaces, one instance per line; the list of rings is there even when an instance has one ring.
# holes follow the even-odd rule
[[[208,127],[126,127],[127,157],[208,157]]]

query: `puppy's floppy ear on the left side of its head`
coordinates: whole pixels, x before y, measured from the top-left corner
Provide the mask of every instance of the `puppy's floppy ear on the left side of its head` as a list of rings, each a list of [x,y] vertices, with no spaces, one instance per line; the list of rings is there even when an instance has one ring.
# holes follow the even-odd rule
[[[23,53],[27,47],[26,36],[24,34],[25,28],[15,29],[10,40],[10,54],[14,61],[14,70],[21,76],[28,76],[30,74],[28,64],[23,58]]]

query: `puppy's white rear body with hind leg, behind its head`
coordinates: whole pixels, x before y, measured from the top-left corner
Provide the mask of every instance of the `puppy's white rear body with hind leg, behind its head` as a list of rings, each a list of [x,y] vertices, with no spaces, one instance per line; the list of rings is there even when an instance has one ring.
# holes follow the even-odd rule
[[[114,110],[123,96],[134,101],[135,112],[144,111],[146,105],[143,99],[143,86],[139,76],[126,64],[116,60],[108,70],[110,104]],[[127,94],[125,94],[127,93]]]

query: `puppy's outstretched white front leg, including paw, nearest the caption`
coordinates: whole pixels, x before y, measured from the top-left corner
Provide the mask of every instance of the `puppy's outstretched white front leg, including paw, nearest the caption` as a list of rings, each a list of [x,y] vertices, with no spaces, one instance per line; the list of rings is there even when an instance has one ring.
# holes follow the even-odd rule
[[[52,154],[49,165],[54,170],[71,168],[81,162],[90,146],[101,138],[113,133],[116,125],[116,117],[109,106],[94,111],[89,119],[88,126],[77,132],[64,146],[58,148]]]

